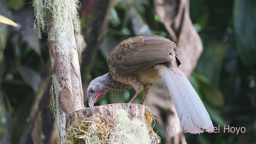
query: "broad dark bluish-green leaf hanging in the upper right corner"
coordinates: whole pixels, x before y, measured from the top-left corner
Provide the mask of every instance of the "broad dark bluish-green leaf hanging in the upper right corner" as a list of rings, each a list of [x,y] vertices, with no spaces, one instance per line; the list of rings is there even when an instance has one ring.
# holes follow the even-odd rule
[[[235,0],[233,19],[238,54],[246,66],[254,66],[256,64],[256,0]]]

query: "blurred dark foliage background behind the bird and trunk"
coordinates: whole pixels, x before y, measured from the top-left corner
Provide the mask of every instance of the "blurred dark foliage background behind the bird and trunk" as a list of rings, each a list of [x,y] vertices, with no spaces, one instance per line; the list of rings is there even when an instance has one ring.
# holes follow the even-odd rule
[[[201,39],[196,45],[199,49],[194,47],[196,53],[186,53],[195,58],[194,65],[184,70],[214,126],[220,125],[220,132],[184,134],[178,139],[185,136],[182,143],[199,144],[256,143],[255,0],[81,0],[78,11],[87,44],[80,57],[84,92],[90,80],[109,71],[106,58],[122,40],[157,34],[182,49],[186,38],[180,42],[181,36],[196,30]],[[38,39],[32,30],[31,0],[0,0],[0,15],[20,25],[0,23],[0,144],[54,144],[57,132],[49,107],[52,72],[48,36]],[[185,33],[184,27],[188,29]],[[96,105],[129,102],[134,93],[134,89],[110,92]],[[86,94],[84,97],[88,106]],[[162,143],[175,143],[166,132],[165,110],[155,106],[154,112],[161,121],[156,121],[154,130]],[[246,132],[224,132],[224,126],[245,127]]]

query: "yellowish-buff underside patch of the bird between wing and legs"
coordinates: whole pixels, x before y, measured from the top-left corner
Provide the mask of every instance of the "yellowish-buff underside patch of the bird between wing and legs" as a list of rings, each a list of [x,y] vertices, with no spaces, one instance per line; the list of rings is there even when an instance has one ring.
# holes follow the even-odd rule
[[[137,74],[138,78],[143,84],[153,84],[159,78],[158,73],[154,70],[153,67],[138,72]]]

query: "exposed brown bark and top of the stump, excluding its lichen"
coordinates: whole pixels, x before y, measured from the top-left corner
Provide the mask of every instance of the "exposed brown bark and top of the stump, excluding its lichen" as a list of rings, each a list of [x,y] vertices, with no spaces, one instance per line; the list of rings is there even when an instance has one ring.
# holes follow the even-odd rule
[[[66,119],[66,122],[67,122],[66,129],[69,129],[68,131],[71,132],[69,133],[70,135],[68,135],[68,140],[72,138],[74,139],[74,137],[76,137],[77,139],[80,138],[81,141],[84,140],[83,139],[84,137],[88,137],[89,128],[82,129],[81,123],[86,122],[86,124],[88,124],[90,122],[96,122],[98,129],[100,128],[102,128],[103,130],[109,129],[108,132],[104,132],[104,134],[106,133],[108,134],[106,136],[107,140],[104,143],[108,144],[110,135],[116,133],[112,130],[115,127],[116,112],[118,109],[126,110],[126,112],[128,112],[128,117],[131,120],[133,118],[137,118],[142,122],[143,126],[146,126],[147,131],[150,135],[152,144],[160,143],[160,137],[154,132],[154,130],[152,130],[152,121],[154,120],[154,117],[152,116],[152,113],[150,112],[150,110],[145,105],[132,104],[132,103],[107,104],[107,105],[94,106],[91,108],[85,108],[83,110],[71,112]],[[80,122],[74,124],[74,122],[77,122],[77,121],[80,121]],[[129,122],[128,122],[128,126],[129,126]],[[130,130],[132,130],[132,128]],[[78,132],[83,131],[83,133],[80,135],[72,135],[74,133],[78,134],[77,131]],[[97,134],[101,133],[101,131],[98,130],[98,132],[96,133]],[[76,141],[76,143],[77,142],[80,142],[80,141]],[[129,143],[129,142],[126,142],[126,143]]]

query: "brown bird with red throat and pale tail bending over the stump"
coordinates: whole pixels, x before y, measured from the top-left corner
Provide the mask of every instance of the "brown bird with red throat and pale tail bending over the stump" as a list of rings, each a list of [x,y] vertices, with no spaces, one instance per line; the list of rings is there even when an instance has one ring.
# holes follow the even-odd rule
[[[161,79],[168,90],[183,128],[206,130],[213,126],[201,99],[180,70],[176,44],[159,35],[135,36],[123,40],[107,58],[110,72],[95,78],[87,88],[88,104],[94,106],[109,91],[134,88],[133,103],[144,90],[144,104],[152,84]],[[196,133],[196,132],[190,132]]]

